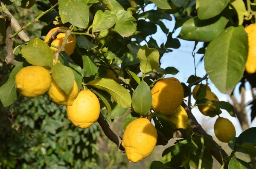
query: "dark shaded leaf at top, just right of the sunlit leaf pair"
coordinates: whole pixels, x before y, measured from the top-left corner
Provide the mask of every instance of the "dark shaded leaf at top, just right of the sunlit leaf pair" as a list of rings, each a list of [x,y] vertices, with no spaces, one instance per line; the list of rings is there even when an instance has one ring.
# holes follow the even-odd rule
[[[172,17],[169,14],[166,14],[163,11],[160,10],[150,10],[150,11],[146,11],[143,13],[140,13],[138,15],[139,18],[148,18],[151,22],[153,23],[157,23],[157,21],[161,20],[161,19],[166,19],[171,21]]]

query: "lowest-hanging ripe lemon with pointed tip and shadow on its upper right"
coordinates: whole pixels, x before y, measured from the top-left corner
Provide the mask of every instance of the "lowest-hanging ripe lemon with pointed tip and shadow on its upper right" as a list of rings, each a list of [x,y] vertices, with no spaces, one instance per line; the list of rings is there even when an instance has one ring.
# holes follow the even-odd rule
[[[148,157],[157,144],[157,130],[146,118],[137,118],[125,128],[122,146],[134,163]]]

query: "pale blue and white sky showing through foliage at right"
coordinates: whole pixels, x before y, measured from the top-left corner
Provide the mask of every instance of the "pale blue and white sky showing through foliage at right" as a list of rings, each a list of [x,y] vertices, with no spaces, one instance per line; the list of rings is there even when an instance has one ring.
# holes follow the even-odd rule
[[[148,6],[146,6],[145,11],[151,10],[151,9],[156,9],[156,7],[154,6],[154,4],[149,4]],[[175,25],[175,18],[172,16],[172,21],[169,20],[162,20],[162,22],[166,25],[167,28],[169,28],[169,31],[172,31]],[[178,28],[175,33],[172,35],[173,38],[177,37],[178,34],[180,33],[181,28]],[[166,34],[163,33],[163,31],[161,30],[161,28],[157,25],[157,33],[153,34],[152,37],[157,41],[158,46],[160,46],[162,43],[165,43],[167,40]],[[149,40],[149,37],[146,38],[146,40]],[[193,57],[192,57],[192,51],[195,45],[194,41],[186,41],[183,39],[179,39],[180,40],[180,48],[178,49],[172,49],[172,52],[166,53],[163,55],[163,57],[161,58],[160,62],[161,62],[161,68],[166,68],[169,66],[175,67],[177,68],[177,70],[179,70],[179,73],[177,73],[176,75],[167,75],[166,77],[175,77],[177,79],[180,80],[180,82],[184,82],[186,83],[187,79],[189,78],[189,76],[195,74],[195,68],[194,68],[194,61],[193,61]],[[145,41],[141,42],[141,45],[146,44]],[[199,42],[197,45],[197,48],[195,49],[195,51],[198,51],[199,48],[201,48],[203,45],[202,42]],[[204,62],[201,62],[200,64],[198,64],[199,60],[201,59],[203,55],[202,54],[195,54],[195,63],[197,66],[196,69],[196,75],[199,77],[203,77],[206,74],[206,71],[204,69]],[[230,98],[227,94],[222,94],[218,91],[218,89],[215,87],[215,85],[208,80],[209,82],[209,87],[211,88],[212,92],[216,94],[216,96],[218,96],[218,99],[220,101],[229,101],[232,104],[232,101],[230,101]],[[204,81],[204,83],[206,83],[206,81]],[[250,85],[247,83],[246,86],[246,103],[248,101],[252,100],[252,95],[250,93]],[[241,97],[239,96],[239,90],[238,87],[236,87],[235,90],[235,96],[237,98],[238,101],[241,100]],[[192,104],[195,103],[195,100],[192,98]],[[213,128],[213,124],[216,121],[216,118],[210,118],[207,116],[204,116],[201,114],[201,112],[199,112],[198,108],[195,107],[194,109],[192,109],[192,113],[195,115],[195,117],[197,118],[198,122],[204,126],[205,124],[209,123],[209,125],[212,125]],[[223,110],[223,113],[221,113],[220,115],[221,117],[224,118],[228,118],[230,121],[233,122],[234,126],[236,127],[236,136],[239,136],[240,133],[242,132],[239,121],[237,118],[233,118],[229,115],[229,113],[227,113],[227,111]],[[250,121],[250,108],[247,107],[247,116],[248,119]],[[253,123],[250,124],[250,127],[256,127],[256,120],[253,120]],[[213,130],[210,130],[210,132],[213,132]]]

